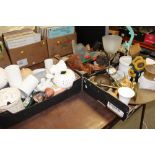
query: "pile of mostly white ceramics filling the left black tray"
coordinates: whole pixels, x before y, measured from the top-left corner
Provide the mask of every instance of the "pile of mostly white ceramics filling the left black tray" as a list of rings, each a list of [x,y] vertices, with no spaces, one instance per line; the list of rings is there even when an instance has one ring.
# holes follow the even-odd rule
[[[44,63],[45,68],[34,71],[18,65],[0,68],[0,112],[16,113],[31,99],[40,103],[72,87],[76,76],[63,60],[53,64],[52,59],[47,59]]]

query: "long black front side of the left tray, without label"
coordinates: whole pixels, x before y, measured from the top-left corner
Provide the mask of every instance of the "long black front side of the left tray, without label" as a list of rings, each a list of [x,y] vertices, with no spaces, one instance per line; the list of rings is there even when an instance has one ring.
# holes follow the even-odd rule
[[[74,94],[77,94],[81,91],[81,78],[77,79],[72,88],[65,90],[64,92],[52,97],[49,100],[46,100],[42,103],[35,103],[32,106],[12,114],[8,111],[0,113],[0,128],[9,128],[10,126],[17,124],[23,120],[28,119],[29,117],[60,103],[61,101],[71,97]]]

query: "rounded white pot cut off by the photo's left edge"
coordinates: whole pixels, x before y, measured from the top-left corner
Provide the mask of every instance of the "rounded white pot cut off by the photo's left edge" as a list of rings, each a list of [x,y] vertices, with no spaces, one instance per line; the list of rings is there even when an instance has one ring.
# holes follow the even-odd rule
[[[0,89],[6,86],[7,83],[8,83],[8,80],[7,80],[5,70],[3,68],[0,68]]]

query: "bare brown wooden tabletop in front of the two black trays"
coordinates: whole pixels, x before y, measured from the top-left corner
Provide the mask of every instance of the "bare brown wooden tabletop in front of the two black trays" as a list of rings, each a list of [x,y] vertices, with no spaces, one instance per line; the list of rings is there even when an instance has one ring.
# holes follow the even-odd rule
[[[111,128],[118,117],[86,93],[79,93],[12,128]]]

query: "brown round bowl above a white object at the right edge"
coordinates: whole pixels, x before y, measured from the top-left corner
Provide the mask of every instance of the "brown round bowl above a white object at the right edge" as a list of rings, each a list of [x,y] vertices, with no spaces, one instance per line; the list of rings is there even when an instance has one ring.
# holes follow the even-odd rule
[[[144,76],[148,80],[155,81],[155,65],[147,65],[145,67]]]

